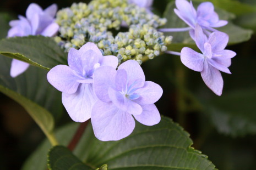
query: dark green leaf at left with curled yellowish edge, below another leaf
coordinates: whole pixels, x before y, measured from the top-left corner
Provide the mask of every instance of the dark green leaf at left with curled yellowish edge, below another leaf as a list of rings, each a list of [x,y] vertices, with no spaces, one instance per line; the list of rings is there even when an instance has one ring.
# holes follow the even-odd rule
[[[11,59],[0,56],[0,92],[23,106],[50,137],[55,122],[52,114],[58,118],[62,111],[61,93],[47,82],[47,71],[37,67],[30,66],[17,78],[10,77],[10,61]]]

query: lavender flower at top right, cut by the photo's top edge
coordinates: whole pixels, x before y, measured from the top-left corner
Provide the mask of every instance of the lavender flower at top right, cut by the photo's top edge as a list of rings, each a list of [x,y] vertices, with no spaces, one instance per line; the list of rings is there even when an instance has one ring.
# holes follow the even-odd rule
[[[219,20],[218,14],[214,11],[214,5],[211,2],[201,3],[197,10],[193,7],[192,1],[190,3],[186,0],[176,0],[175,13],[192,29],[195,29],[195,25],[199,24],[203,29],[215,31],[211,27],[221,27],[227,24],[225,20]],[[190,31],[192,38],[194,32]]]

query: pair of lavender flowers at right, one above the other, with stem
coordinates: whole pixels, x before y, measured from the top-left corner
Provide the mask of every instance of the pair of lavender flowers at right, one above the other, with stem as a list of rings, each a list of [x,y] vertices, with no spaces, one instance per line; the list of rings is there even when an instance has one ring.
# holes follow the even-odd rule
[[[231,58],[236,53],[225,50],[228,35],[213,29],[213,27],[224,26],[227,21],[219,20],[211,2],[203,2],[195,10],[191,1],[189,3],[186,0],[176,0],[176,7],[175,13],[189,25],[190,37],[194,39],[202,52],[200,54],[193,49],[184,47],[180,53],[182,63],[189,69],[201,72],[205,84],[215,94],[221,95],[224,83],[220,71],[231,73],[227,67],[231,65]],[[170,30],[172,29],[163,29],[166,32]]]

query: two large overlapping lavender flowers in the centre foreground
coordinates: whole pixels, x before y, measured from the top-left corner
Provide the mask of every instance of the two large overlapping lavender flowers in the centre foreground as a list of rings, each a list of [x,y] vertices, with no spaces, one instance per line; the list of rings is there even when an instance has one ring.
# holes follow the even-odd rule
[[[102,56],[94,43],[69,50],[68,65],[57,65],[47,74],[48,81],[62,92],[62,103],[76,122],[91,118],[100,140],[119,140],[132,133],[134,118],[152,126],[160,122],[154,103],[162,88],[145,81],[137,61],[119,65],[116,56]],[[134,117],[134,118],[133,118]]]

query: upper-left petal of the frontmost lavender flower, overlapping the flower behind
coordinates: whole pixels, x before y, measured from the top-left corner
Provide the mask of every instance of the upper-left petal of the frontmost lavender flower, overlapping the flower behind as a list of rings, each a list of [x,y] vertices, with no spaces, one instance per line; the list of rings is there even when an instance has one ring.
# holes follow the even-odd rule
[[[114,86],[116,72],[111,66],[101,66],[94,71],[94,92],[101,101],[110,101],[108,88]]]

